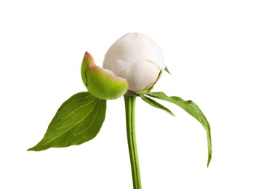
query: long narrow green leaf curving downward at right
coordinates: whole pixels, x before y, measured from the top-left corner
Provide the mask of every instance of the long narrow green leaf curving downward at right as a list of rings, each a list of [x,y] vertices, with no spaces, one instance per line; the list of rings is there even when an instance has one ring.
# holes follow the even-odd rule
[[[145,94],[150,97],[156,97],[161,100],[167,100],[168,102],[172,102],[175,105],[180,106],[180,108],[183,108],[183,110],[185,110],[191,116],[196,118],[201,123],[201,125],[204,126],[204,129],[207,132],[207,141],[208,141],[207,166],[209,166],[209,163],[212,158],[211,128],[209,126],[209,122],[207,121],[207,118],[204,116],[204,113],[201,112],[199,106],[196,105],[196,103],[192,102],[191,100],[185,101],[180,97],[168,97],[166,94],[164,94],[164,92],[148,92]]]

